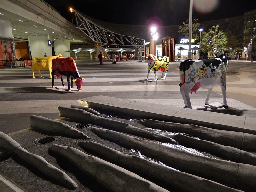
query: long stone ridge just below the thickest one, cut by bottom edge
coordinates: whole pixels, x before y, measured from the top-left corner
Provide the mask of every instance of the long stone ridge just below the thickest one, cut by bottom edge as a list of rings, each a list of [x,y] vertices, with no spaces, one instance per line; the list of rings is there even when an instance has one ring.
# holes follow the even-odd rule
[[[233,188],[229,188],[219,183],[181,172],[167,166],[153,163],[138,156],[124,154],[100,143],[93,141],[80,141],[79,146],[85,151],[99,156],[106,161],[125,167],[126,169],[139,174],[141,177],[147,176],[147,178],[150,178],[152,182],[156,182],[156,180],[159,183],[164,182],[164,185],[168,186],[168,188],[165,187],[168,190],[176,188],[178,191],[184,192],[234,192]]]

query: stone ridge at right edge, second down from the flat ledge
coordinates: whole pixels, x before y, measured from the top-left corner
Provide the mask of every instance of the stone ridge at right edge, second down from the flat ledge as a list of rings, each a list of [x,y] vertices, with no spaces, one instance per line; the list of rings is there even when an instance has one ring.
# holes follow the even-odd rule
[[[222,159],[234,161],[236,163],[244,163],[256,166],[256,155],[253,153],[181,134],[173,135],[172,138],[182,146],[204,151]]]

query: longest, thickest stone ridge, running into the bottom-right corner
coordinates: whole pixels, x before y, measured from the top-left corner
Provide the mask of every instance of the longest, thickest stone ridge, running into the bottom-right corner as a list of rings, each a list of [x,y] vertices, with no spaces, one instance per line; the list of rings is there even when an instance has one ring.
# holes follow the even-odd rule
[[[136,149],[142,154],[182,172],[203,177],[231,188],[255,191],[255,166],[190,154],[177,148],[112,130],[94,127],[92,132],[105,140],[115,142],[126,148]]]

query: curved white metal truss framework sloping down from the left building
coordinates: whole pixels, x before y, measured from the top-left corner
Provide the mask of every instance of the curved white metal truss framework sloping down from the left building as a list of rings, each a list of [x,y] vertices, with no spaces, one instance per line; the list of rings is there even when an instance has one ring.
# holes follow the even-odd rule
[[[117,45],[117,46],[135,46],[139,48],[144,46],[144,40],[132,36],[126,36],[113,32],[92,20],[86,18],[82,13],[74,10],[76,28],[80,29],[93,42],[97,42],[99,46]]]

